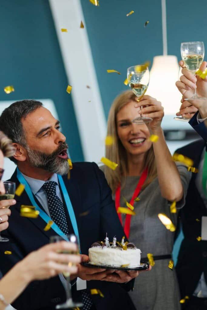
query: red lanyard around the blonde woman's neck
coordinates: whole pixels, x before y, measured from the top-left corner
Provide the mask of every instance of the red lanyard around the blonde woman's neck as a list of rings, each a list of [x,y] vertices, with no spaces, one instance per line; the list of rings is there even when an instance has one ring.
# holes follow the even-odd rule
[[[140,190],[142,188],[142,185],[144,184],[146,177],[147,177],[147,172],[148,169],[146,168],[143,172],[142,175],[139,179],[139,182],[137,184],[137,187],[135,188],[135,191],[133,193],[132,199],[130,201],[130,205],[134,205],[134,199],[139,195]],[[115,193],[115,206],[116,206],[116,210],[120,207],[120,193],[121,193],[121,186],[119,184],[119,186],[116,189],[116,193]],[[122,218],[121,218],[121,213],[118,213],[119,216],[119,220],[122,224]],[[124,224],[124,233],[125,236],[128,238],[129,237],[129,232],[130,232],[130,222],[131,222],[131,215],[127,214],[126,215],[126,219],[125,219],[125,224]],[[122,224],[123,226],[123,224]]]

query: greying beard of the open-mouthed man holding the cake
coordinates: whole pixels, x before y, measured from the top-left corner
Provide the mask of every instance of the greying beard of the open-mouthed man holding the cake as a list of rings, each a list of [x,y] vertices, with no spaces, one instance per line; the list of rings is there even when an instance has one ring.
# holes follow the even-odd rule
[[[56,153],[45,154],[39,151],[34,151],[29,147],[26,148],[29,162],[35,168],[41,168],[43,170],[57,173],[59,175],[65,175],[69,171],[69,165],[66,159],[57,157]]]

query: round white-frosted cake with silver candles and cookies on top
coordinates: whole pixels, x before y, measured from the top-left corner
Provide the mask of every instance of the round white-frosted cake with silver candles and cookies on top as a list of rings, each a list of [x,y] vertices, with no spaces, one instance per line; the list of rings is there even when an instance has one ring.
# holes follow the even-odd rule
[[[123,268],[135,268],[140,266],[141,251],[131,242],[117,242],[113,238],[113,242],[109,242],[109,238],[105,238],[105,242],[98,241],[92,244],[88,250],[90,264],[97,266],[111,266]]]

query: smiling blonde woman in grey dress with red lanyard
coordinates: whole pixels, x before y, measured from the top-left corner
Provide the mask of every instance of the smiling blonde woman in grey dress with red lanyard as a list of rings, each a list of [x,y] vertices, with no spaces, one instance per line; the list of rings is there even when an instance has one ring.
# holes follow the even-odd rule
[[[152,122],[133,123],[137,113]],[[155,266],[140,273],[130,293],[137,310],[180,309],[176,273],[168,267],[174,233],[160,222],[158,213],[165,213],[176,225],[177,214],[170,213],[170,204],[176,201],[177,209],[184,206],[191,173],[172,161],[161,128],[163,116],[161,103],[150,96],[137,103],[132,91],[119,95],[108,118],[107,135],[114,137],[114,144],[106,147],[106,157],[118,167],[101,168],[116,208],[126,207],[126,201],[134,205],[135,216],[119,215],[129,241],[141,249],[142,258],[148,253],[154,256]],[[159,138],[156,143],[149,140],[152,134]],[[137,196],[140,200],[134,201]]]

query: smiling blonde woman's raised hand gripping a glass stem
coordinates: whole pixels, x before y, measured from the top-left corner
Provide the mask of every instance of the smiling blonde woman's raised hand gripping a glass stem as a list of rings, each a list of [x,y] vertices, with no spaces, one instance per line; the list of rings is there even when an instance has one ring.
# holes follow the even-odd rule
[[[142,114],[143,117],[152,118],[152,121],[146,125],[151,134],[156,134],[160,129],[162,118],[164,116],[164,108],[162,107],[161,102],[149,95],[145,95],[140,102],[137,102],[134,106],[135,108],[140,108],[138,113]]]

